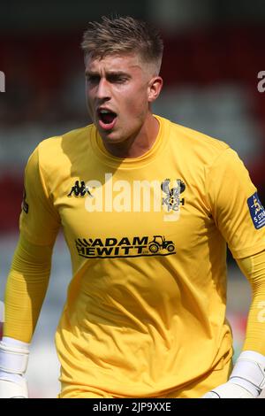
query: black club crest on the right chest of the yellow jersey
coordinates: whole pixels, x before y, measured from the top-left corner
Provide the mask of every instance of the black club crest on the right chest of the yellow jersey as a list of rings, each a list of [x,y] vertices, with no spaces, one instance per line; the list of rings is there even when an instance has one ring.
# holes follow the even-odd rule
[[[180,199],[180,194],[185,191],[186,184],[181,179],[176,179],[174,187],[170,188],[170,179],[165,179],[161,184],[161,189],[166,194],[162,199],[162,204],[166,205],[167,211],[179,211],[180,204],[185,204],[185,198]]]

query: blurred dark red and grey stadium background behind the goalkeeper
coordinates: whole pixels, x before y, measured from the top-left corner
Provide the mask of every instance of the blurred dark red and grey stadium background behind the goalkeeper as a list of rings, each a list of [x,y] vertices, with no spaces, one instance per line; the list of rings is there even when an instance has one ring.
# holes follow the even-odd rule
[[[230,143],[265,200],[265,93],[257,88],[258,73],[265,70],[263,0],[1,2],[0,300],[18,237],[27,158],[44,138],[89,123],[79,43],[89,20],[115,13],[148,19],[161,28],[164,89],[155,112]],[[231,255],[228,274],[236,358],[251,293]],[[57,396],[53,337],[70,278],[70,258],[60,235],[32,345],[31,397]]]

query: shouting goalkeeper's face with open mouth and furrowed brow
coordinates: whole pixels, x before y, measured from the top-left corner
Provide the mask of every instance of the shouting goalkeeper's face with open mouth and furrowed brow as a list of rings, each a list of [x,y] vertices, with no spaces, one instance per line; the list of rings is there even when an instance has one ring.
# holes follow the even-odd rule
[[[121,143],[138,135],[159,77],[136,54],[87,57],[85,64],[87,109],[102,139]]]

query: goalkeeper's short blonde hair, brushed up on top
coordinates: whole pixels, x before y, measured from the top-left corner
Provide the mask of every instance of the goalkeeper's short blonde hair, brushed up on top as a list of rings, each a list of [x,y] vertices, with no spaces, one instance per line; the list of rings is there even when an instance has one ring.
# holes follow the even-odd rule
[[[160,72],[163,40],[157,28],[131,16],[91,21],[83,35],[81,48],[85,56],[103,58],[106,55],[137,53],[142,62],[155,66]]]

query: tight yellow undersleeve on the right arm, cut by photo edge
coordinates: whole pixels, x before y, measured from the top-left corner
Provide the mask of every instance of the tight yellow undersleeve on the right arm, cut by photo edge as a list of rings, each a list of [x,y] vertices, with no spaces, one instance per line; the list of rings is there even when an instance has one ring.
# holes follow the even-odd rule
[[[240,258],[237,262],[253,292],[243,350],[265,355],[265,250],[248,258]]]

